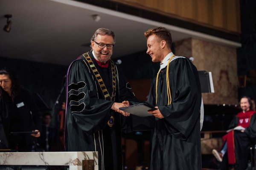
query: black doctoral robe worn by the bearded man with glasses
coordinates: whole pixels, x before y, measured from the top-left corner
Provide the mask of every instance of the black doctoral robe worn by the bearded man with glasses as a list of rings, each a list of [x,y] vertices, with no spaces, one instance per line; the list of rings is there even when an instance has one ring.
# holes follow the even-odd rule
[[[112,94],[111,64],[101,68],[93,54],[89,56],[96,66],[108,92]],[[89,66],[90,67],[90,66]],[[105,100],[102,91],[84,61],[79,57],[67,73],[67,108],[65,143],[67,151],[98,151],[99,170],[122,170],[120,113],[111,110],[113,101]],[[120,68],[116,69],[115,102],[134,100],[134,94]],[[74,105],[77,105],[73,107]],[[114,125],[108,121],[114,117]]]

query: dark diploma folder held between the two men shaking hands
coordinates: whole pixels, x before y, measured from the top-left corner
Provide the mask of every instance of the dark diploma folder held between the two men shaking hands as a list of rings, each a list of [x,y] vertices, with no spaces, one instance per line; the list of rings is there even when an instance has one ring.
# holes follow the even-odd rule
[[[146,117],[146,116],[152,116],[152,114],[148,113],[148,111],[154,111],[154,110],[157,110],[157,108],[154,108],[154,106],[151,106],[147,103],[140,103],[137,105],[122,107],[122,108],[119,108],[119,110],[134,114],[136,116]]]

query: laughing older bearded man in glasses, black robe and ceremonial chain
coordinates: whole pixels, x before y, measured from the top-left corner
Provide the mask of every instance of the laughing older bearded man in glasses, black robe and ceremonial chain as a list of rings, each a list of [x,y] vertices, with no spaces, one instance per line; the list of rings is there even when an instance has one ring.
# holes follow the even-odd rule
[[[99,28],[92,51],[73,61],[67,71],[65,141],[67,151],[98,151],[99,170],[122,170],[121,121],[116,112],[134,100],[120,68],[110,59],[113,31]]]

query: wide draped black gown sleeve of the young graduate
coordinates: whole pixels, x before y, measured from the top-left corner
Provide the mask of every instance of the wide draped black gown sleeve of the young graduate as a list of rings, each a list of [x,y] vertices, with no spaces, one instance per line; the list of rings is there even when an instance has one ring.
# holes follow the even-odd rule
[[[198,71],[189,59],[178,58],[170,62],[169,84],[172,103],[170,105],[157,103],[157,106],[164,117],[168,132],[177,139],[186,140],[200,119],[201,107]],[[167,94],[166,88],[162,91]],[[157,100],[160,97],[162,96],[158,96]]]

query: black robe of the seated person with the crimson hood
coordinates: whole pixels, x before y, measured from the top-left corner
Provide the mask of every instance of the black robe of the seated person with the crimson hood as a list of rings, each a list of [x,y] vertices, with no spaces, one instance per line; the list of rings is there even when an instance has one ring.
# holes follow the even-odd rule
[[[232,129],[239,125],[239,118],[235,116],[229,125]],[[256,144],[256,114],[254,113],[250,118],[249,126],[244,130],[244,133],[239,130],[234,130],[234,150],[236,156],[236,163],[228,164],[228,154],[225,153],[220,164],[221,170],[227,170],[229,166],[233,166],[235,170],[245,170],[247,163],[250,160],[250,147]]]

